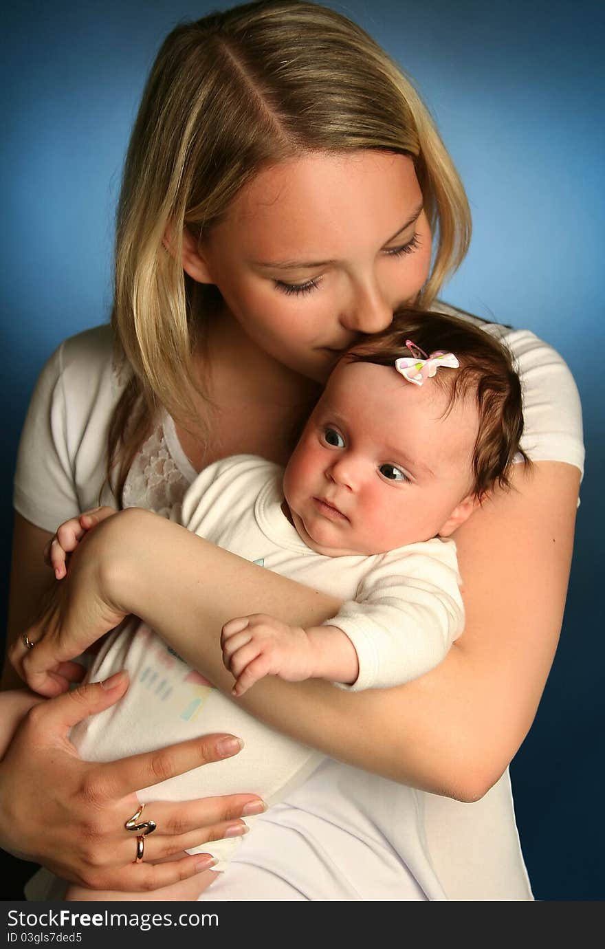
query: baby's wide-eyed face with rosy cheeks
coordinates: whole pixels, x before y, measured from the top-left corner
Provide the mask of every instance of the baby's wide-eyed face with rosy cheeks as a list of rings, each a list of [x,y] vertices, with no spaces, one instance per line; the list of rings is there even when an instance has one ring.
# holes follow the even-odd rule
[[[440,369],[439,372],[455,370]],[[447,535],[469,494],[478,415],[394,368],[339,363],[284,474],[284,496],[308,547],[328,556],[383,553]]]

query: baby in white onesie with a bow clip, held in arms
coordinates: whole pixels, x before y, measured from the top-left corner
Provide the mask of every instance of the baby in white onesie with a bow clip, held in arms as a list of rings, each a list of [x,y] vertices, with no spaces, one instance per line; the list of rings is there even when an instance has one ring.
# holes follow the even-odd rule
[[[343,601],[334,618],[306,629],[267,616],[226,623],[233,694],[267,674],[387,688],[442,661],[464,627],[449,536],[487,492],[508,485],[513,461],[524,460],[521,435],[520,383],[503,346],[453,317],[402,310],[340,360],[285,471],[234,456],[199,474],[173,519]],[[62,527],[73,549],[78,520]],[[52,559],[61,573],[58,543]],[[245,742],[234,758],[143,789],[141,803],[246,788],[271,805],[321,760],[224,698],[136,618],[103,645],[90,678],[122,668],[132,683],[126,696],[72,731],[83,758],[114,759],[213,731]],[[198,849],[220,870],[240,843]],[[68,898],[94,895],[72,887]]]

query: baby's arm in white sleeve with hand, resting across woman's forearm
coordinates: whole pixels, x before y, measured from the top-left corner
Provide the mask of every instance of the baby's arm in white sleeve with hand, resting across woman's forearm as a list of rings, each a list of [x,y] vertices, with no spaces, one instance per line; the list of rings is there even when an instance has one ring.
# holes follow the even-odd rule
[[[433,540],[377,560],[321,626],[291,626],[265,615],[223,627],[223,661],[242,696],[266,675],[328,679],[356,691],[417,679],[445,659],[462,633],[464,608],[452,541]]]

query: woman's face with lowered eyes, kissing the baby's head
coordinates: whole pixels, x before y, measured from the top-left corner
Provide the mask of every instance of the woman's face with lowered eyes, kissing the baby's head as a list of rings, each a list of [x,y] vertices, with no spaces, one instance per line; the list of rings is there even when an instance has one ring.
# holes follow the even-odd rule
[[[415,299],[431,233],[411,158],[317,153],[255,177],[200,252],[247,337],[323,382],[359,333]]]

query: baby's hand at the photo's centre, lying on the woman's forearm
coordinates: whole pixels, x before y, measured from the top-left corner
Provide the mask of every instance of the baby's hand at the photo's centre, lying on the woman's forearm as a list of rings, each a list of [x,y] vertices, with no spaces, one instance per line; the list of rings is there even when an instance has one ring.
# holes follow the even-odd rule
[[[223,662],[235,677],[234,696],[243,696],[263,676],[300,682],[313,675],[315,650],[306,630],[270,616],[229,620],[223,626],[221,647]]]

